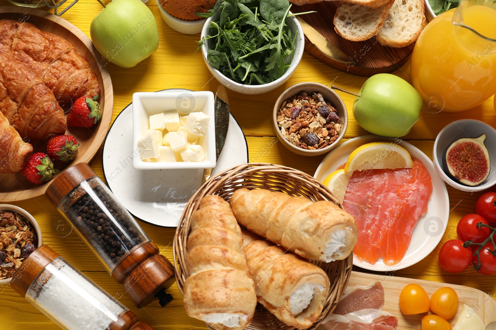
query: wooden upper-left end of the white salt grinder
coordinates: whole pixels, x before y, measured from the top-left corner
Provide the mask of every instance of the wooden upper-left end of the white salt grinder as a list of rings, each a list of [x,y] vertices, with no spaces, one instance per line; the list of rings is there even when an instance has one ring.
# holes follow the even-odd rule
[[[22,297],[25,297],[31,283],[36,280],[49,263],[58,257],[60,254],[47,244],[38,247],[22,261],[21,266],[12,277],[10,286]]]

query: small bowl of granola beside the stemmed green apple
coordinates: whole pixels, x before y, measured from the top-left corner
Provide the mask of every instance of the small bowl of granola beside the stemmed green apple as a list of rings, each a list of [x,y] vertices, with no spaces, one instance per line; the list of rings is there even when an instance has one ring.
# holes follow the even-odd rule
[[[274,105],[274,131],[289,150],[317,156],[334,148],[348,127],[341,97],[322,84],[300,83],[284,91]]]

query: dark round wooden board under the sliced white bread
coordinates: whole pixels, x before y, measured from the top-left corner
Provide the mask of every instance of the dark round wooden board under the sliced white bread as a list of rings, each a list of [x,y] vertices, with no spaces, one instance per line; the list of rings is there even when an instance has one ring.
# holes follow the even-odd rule
[[[339,4],[339,1],[322,1],[300,6],[293,4],[291,6],[293,13],[316,11],[299,17],[309,23],[334,46],[350,56],[353,63],[345,64],[334,61],[324,55],[305,38],[305,50],[312,56],[333,68],[364,77],[370,77],[377,73],[393,72],[408,60],[415,43],[403,48],[393,48],[380,45],[375,37],[366,41],[354,42],[338,35],[334,31],[333,20]]]

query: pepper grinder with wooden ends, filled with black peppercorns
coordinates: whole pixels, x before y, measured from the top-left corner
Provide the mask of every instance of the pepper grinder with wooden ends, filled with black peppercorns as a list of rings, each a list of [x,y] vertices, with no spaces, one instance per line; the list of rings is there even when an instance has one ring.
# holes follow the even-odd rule
[[[174,266],[86,163],[59,174],[46,196],[138,308],[172,296]]]

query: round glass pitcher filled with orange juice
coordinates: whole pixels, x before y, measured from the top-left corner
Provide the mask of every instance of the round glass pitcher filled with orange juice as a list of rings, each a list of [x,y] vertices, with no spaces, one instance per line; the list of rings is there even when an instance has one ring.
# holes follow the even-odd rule
[[[471,109],[496,91],[496,0],[461,0],[422,31],[413,86],[438,110]]]

